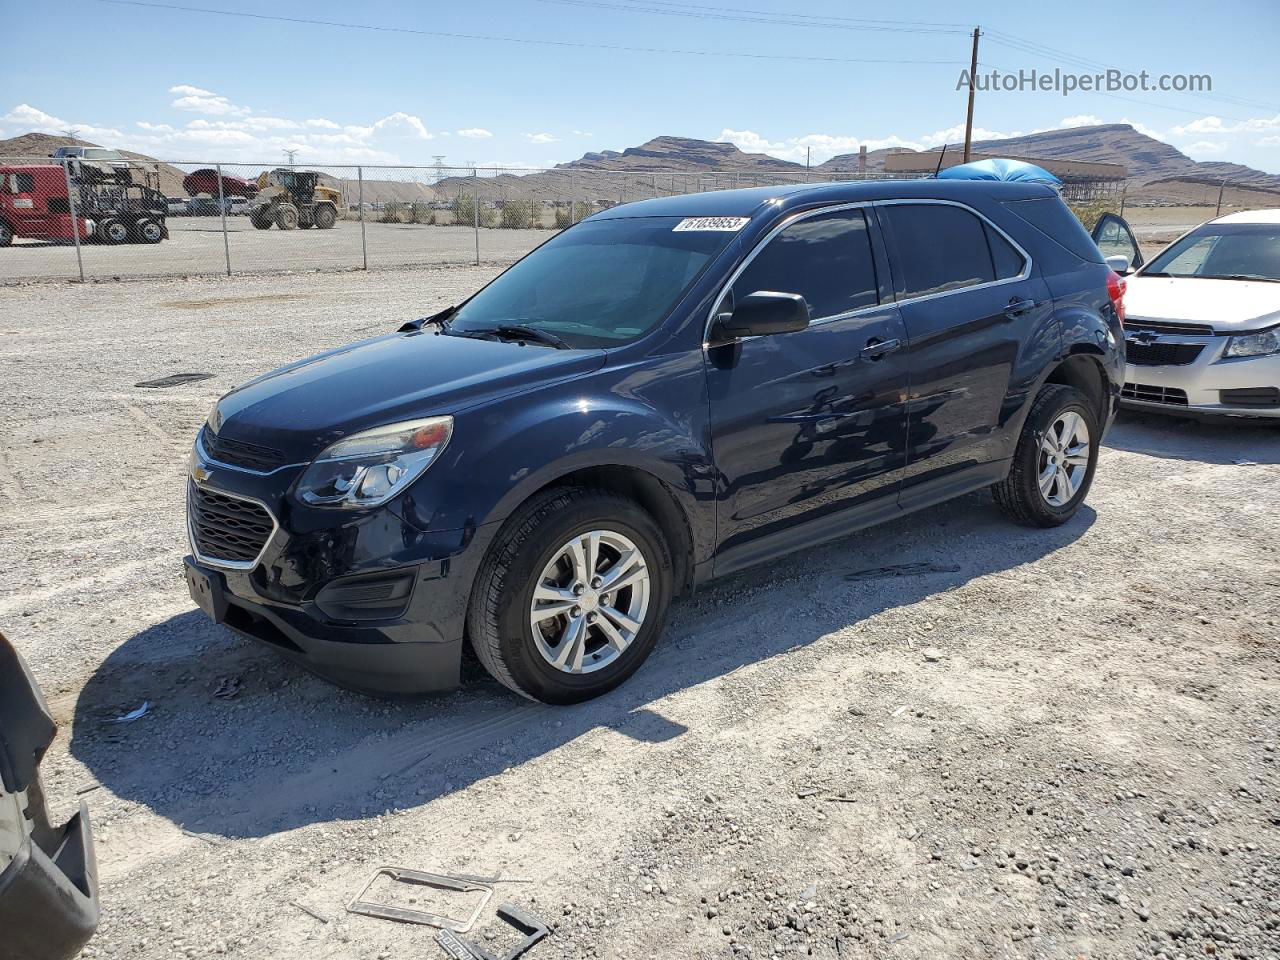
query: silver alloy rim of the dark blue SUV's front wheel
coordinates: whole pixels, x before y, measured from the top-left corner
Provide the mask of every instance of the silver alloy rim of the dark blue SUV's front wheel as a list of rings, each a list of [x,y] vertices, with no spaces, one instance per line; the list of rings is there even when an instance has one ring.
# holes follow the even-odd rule
[[[576,535],[552,556],[534,586],[534,643],[552,667],[591,673],[635,641],[649,609],[649,562],[613,530]]]

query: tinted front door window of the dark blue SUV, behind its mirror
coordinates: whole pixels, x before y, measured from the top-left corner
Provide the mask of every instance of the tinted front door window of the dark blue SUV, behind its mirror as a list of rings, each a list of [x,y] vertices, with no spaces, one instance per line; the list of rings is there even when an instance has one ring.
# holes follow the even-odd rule
[[[799,293],[814,320],[879,302],[876,261],[861,210],[836,210],[787,227],[733,283],[733,297]]]

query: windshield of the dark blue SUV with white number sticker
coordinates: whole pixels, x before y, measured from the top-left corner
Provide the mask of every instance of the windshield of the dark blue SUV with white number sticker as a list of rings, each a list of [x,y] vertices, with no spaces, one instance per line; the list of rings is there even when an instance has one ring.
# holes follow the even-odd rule
[[[616,347],[666,319],[727,230],[676,230],[678,216],[585,220],[540,246],[468,300],[457,333],[520,324],[571,347]]]

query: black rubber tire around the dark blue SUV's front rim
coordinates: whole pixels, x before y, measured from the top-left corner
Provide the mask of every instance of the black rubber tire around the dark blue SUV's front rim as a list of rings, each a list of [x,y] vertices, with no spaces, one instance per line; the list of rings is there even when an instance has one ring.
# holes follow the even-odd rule
[[[612,663],[568,673],[539,653],[530,625],[534,588],[563,544],[593,530],[621,534],[640,549],[649,568],[649,605],[635,639]],[[490,547],[471,593],[467,636],[503,686],[543,703],[580,703],[612,690],[644,663],[662,634],[671,591],[671,556],[653,517],[616,493],[554,488],[512,515]]]

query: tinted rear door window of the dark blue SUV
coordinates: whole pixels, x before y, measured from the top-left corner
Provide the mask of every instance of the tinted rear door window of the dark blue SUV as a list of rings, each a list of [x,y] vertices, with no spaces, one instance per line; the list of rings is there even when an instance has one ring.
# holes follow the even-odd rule
[[[968,210],[948,204],[892,204],[881,207],[881,216],[893,238],[899,297],[927,297],[996,279],[986,225]]]

